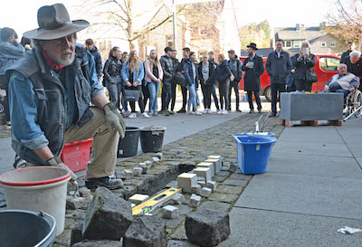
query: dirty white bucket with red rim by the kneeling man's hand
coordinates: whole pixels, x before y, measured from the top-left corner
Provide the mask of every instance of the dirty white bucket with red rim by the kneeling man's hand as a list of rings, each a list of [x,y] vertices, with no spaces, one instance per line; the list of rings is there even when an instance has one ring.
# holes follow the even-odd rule
[[[0,176],[7,209],[21,209],[51,214],[56,221],[56,235],[64,231],[67,185],[71,174],[60,167],[34,166]]]

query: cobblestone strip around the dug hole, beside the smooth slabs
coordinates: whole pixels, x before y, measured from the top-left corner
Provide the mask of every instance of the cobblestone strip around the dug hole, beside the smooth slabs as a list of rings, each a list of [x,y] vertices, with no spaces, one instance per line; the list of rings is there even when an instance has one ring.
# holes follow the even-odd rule
[[[236,145],[232,134],[252,131],[254,122],[260,117],[259,114],[248,114],[240,118],[225,122],[224,124],[207,128],[194,135],[179,139],[166,145],[163,150],[163,160],[157,166],[148,170],[148,174],[124,180],[125,186],[114,193],[126,199],[136,193],[154,195],[163,189],[169,182],[175,183],[176,176],[182,172],[191,170],[197,163],[200,163],[210,155],[220,155],[224,157],[223,170],[213,177],[218,182],[216,191],[207,199],[203,198],[202,204],[198,208],[209,208],[229,212],[233,204],[243,193],[243,189],[248,185],[252,176],[245,176],[240,169],[230,173],[228,166],[230,162],[237,164]],[[267,120],[264,131],[270,131],[281,135],[283,130],[281,120],[271,118]],[[141,154],[136,157],[129,157],[122,161],[116,167],[116,173],[129,169],[132,166],[138,166],[139,162],[148,160],[154,154]],[[167,233],[169,239],[187,242],[185,232],[185,215],[194,208],[188,206],[190,195],[186,195],[186,202],[176,205],[181,216],[174,219],[165,219],[167,224]],[[56,238],[53,246],[69,246],[71,240],[71,229],[84,217],[86,207],[77,210],[67,210],[65,231]],[[161,217],[159,210],[156,211],[157,217]],[[191,245],[190,245],[191,246]]]

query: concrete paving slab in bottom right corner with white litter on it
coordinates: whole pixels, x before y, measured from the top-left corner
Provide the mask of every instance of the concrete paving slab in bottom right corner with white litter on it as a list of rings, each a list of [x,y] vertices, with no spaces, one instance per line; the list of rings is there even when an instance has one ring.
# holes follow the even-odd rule
[[[230,213],[232,233],[218,246],[362,246],[361,233],[345,235],[337,232],[345,225],[359,228],[361,223],[352,219],[234,207]]]

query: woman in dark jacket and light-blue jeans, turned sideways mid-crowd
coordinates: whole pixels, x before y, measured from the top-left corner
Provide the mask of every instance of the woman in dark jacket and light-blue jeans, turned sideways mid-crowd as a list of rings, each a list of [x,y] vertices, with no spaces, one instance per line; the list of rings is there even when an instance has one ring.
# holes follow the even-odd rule
[[[187,113],[198,116],[203,115],[197,110],[196,85],[198,83],[198,70],[195,52],[190,52],[190,58],[184,64],[184,71],[186,89],[188,90]],[[193,110],[191,110],[191,105]]]

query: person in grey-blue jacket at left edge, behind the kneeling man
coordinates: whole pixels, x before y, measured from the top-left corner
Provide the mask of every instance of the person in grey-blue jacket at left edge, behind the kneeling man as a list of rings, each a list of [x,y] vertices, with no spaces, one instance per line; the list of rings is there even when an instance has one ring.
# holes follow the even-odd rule
[[[5,71],[10,68],[19,58],[24,55],[24,47],[17,43],[17,34],[14,29],[4,27],[0,32],[0,89],[6,91],[8,81],[5,78]],[[4,100],[4,110],[7,128],[11,128],[10,110],[7,97]]]

